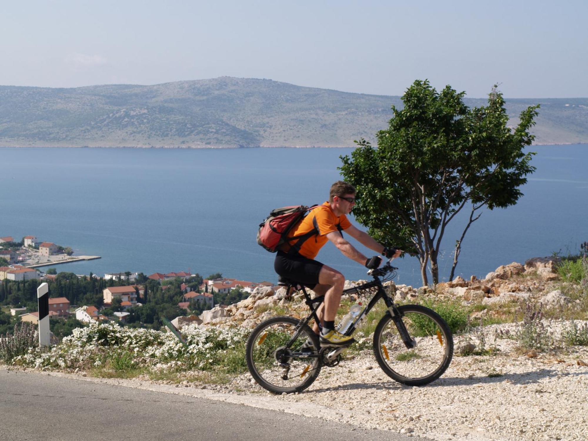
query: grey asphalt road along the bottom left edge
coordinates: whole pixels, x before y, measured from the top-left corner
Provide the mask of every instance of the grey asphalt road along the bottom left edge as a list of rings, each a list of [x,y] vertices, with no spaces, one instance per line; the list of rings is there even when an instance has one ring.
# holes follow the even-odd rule
[[[0,440],[422,440],[275,410],[0,369]]]

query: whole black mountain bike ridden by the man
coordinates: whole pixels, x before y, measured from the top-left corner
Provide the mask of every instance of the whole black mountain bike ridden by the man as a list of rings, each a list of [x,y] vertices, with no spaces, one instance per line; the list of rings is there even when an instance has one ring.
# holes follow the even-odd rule
[[[383,300],[387,310],[373,333],[377,363],[399,383],[426,385],[449,367],[453,336],[445,320],[432,309],[396,305],[395,293],[386,292],[383,286],[383,282],[396,276],[397,268],[390,265],[391,260],[381,268],[368,271],[372,281],[343,291],[343,295],[376,291],[368,306],[343,333],[353,335],[362,319]],[[286,293],[291,289],[302,290],[310,314],[303,319],[278,316],[259,323],[247,340],[245,358],[253,379],[264,389],[273,393],[300,392],[316,380],[322,366],[338,365],[341,353],[347,348],[320,348],[319,336],[308,325],[312,319],[320,323],[316,310],[325,296],[310,298],[305,286],[296,280],[281,278],[280,285],[286,286]],[[307,340],[312,342],[311,347],[305,345]]]

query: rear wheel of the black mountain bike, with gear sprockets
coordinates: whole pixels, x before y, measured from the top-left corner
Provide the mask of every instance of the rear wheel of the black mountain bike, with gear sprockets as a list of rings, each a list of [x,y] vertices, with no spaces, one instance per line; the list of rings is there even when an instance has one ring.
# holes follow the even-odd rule
[[[318,377],[322,362],[319,338],[309,328],[292,343],[300,320],[293,317],[273,317],[259,323],[247,340],[246,360],[249,372],[258,384],[273,393],[300,392]],[[303,348],[307,341],[310,347]]]

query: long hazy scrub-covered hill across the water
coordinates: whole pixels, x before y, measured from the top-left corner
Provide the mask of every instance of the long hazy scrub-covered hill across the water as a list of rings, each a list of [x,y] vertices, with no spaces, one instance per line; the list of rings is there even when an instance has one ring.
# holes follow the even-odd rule
[[[537,103],[537,144],[588,143],[588,98],[506,99],[510,123]],[[0,86],[0,146],[349,147],[374,141],[391,105],[402,106],[400,97],[226,76],[153,86]]]

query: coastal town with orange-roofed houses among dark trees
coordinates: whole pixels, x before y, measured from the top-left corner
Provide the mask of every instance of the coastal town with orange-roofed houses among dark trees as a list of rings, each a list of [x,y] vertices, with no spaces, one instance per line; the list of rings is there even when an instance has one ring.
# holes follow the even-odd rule
[[[155,313],[142,320],[143,315],[138,312],[138,309],[149,301],[166,306],[167,308],[162,308],[165,309],[162,316],[169,316],[169,319],[192,315],[198,320],[212,320],[218,313],[215,317],[207,319],[205,312],[213,308],[222,310],[227,304],[233,303],[233,300],[239,301],[248,297],[258,287],[273,287],[271,282],[238,280],[223,277],[220,273],[202,278],[199,274],[189,271],[155,272],[151,275],[125,271],[105,273],[100,277],[92,273],[89,276],[58,273],[55,268],[49,268],[46,272],[37,269],[39,266],[71,261],[68,260],[71,254],[71,248],[64,248],[52,242],[40,242],[35,236],[25,236],[19,242],[12,236],[1,237],[2,310],[14,317],[14,320],[18,317],[22,322],[38,323],[39,313],[35,299],[31,298],[30,282],[34,282],[35,289],[40,283],[47,282],[50,287],[49,318],[52,320],[75,318],[77,322],[72,323],[72,326],[113,321],[121,324],[133,323],[135,326],[153,326],[155,323],[157,327],[159,318],[155,317]],[[15,289],[9,285],[10,282],[16,282],[16,289],[20,288],[22,291],[21,296],[15,294]],[[25,295],[27,282],[28,296]],[[71,288],[80,284],[88,288]],[[74,290],[80,291],[78,295],[68,294]],[[89,290],[93,291],[93,296]]]

